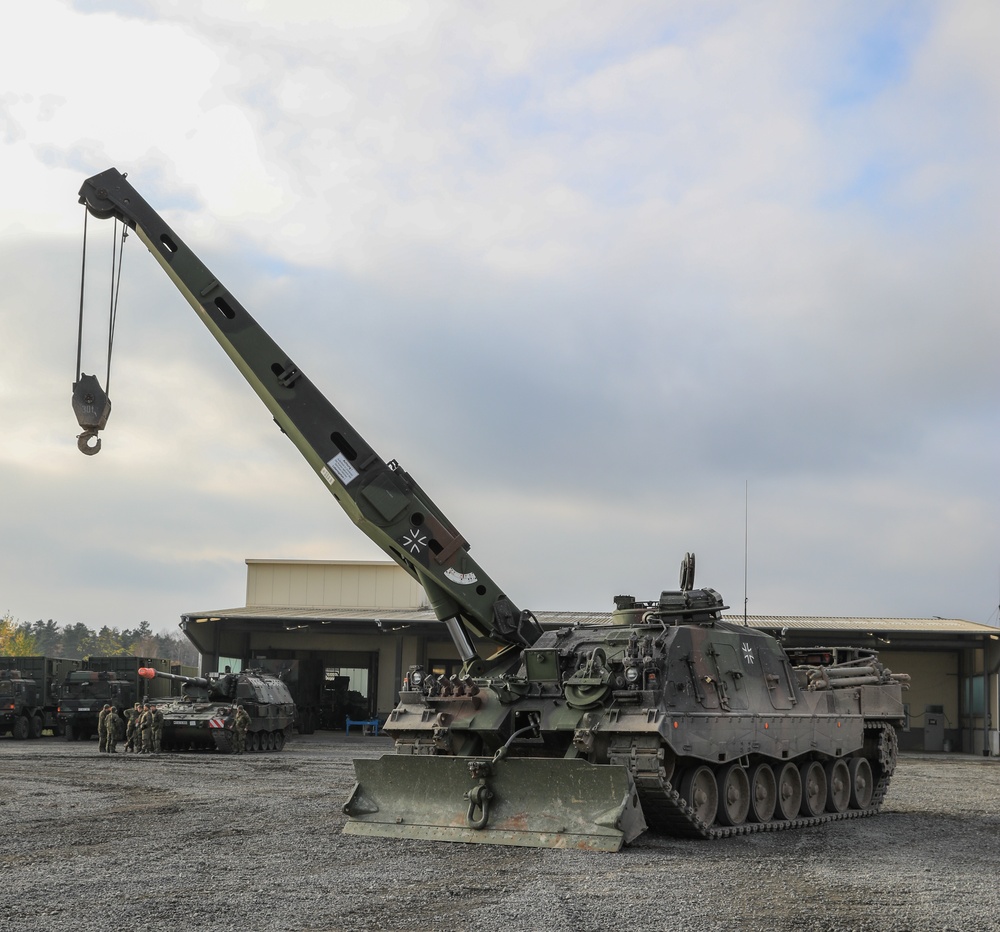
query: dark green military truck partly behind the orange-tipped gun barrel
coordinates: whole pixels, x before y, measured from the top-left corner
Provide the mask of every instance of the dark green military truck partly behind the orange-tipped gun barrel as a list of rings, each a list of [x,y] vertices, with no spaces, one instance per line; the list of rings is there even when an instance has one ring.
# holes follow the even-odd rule
[[[150,667],[169,673],[171,662],[141,657],[88,657],[79,670],[62,683],[58,717],[67,741],[87,741],[97,734],[97,716],[106,703],[115,706],[123,719],[125,709],[146,698],[171,694],[168,680],[152,682],[139,676]]]

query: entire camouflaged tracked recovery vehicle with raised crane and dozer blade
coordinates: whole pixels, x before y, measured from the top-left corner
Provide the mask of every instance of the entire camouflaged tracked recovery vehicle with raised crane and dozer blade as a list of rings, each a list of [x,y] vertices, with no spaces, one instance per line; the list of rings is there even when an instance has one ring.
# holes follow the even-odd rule
[[[716,838],[878,811],[903,683],[873,653],[786,653],[723,619],[693,559],[677,590],[619,597],[612,624],[543,631],[117,170],[80,200],[136,231],[351,520],[423,586],[463,661],[447,680],[408,671],[385,726],[396,753],[355,761],[345,831],[615,850],[647,827]],[[94,454],[111,403],[79,365],[73,401]]]

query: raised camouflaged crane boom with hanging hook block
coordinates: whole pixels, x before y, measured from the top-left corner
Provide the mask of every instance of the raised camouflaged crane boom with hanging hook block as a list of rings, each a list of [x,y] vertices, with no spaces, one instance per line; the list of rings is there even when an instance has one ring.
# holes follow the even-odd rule
[[[473,560],[444,513],[395,460],[369,446],[121,172],[88,178],[80,203],[94,217],[116,217],[135,230],[351,520],[424,588],[469,672],[482,668],[470,631],[499,643],[501,655],[537,640],[537,621]],[[97,380],[85,379],[92,398]],[[77,398],[74,408],[96,437],[107,414],[102,422],[91,411],[85,420]]]

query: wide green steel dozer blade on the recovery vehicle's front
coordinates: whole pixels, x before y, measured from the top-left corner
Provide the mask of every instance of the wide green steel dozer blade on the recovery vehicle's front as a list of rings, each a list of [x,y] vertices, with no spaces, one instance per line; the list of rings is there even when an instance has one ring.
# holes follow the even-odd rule
[[[469,757],[355,760],[344,832],[533,848],[617,851],[646,830],[624,767],[505,758],[474,777]],[[482,777],[482,779],[480,779]]]

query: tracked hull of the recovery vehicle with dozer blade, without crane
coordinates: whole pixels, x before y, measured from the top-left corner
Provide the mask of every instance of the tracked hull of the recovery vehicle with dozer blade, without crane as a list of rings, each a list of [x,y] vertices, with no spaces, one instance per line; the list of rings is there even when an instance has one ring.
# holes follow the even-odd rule
[[[614,851],[647,827],[713,839],[873,815],[904,685],[871,651],[791,656],[719,621],[547,632],[492,677],[412,669],[384,726],[397,753],[355,762],[345,831]]]

